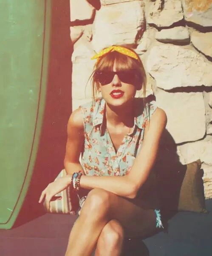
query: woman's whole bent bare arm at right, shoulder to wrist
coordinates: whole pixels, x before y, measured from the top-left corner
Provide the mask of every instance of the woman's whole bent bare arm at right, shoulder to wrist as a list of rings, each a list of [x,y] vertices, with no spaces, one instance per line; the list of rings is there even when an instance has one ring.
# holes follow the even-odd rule
[[[166,113],[157,108],[145,128],[144,141],[128,175],[82,176],[80,186],[85,189],[101,188],[127,198],[135,198],[139,188],[147,180],[158,151],[161,135],[166,127]]]

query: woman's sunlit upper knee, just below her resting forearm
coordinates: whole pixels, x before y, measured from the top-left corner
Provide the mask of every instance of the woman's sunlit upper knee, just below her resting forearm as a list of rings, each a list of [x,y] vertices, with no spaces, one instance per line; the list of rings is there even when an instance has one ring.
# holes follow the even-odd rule
[[[107,212],[110,206],[110,192],[104,189],[92,189],[85,200],[82,211],[91,213],[94,212]]]

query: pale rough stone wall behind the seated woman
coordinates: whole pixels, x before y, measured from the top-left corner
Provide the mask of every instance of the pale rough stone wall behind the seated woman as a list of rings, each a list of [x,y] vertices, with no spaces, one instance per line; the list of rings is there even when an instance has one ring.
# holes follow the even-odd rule
[[[212,198],[212,1],[71,0],[71,25],[73,110],[92,99],[91,56],[112,44],[133,47],[179,160],[201,159]]]

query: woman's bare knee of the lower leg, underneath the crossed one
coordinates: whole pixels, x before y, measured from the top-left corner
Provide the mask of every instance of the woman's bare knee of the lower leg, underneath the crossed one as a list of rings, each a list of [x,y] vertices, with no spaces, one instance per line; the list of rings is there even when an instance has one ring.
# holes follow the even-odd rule
[[[102,239],[106,248],[116,249],[123,243],[124,229],[119,221],[110,220],[102,229],[99,239]]]

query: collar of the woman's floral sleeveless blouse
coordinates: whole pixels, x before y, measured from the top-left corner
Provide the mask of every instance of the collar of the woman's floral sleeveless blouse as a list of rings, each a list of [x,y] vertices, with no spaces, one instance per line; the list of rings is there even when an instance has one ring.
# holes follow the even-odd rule
[[[139,113],[136,114],[134,118],[134,127],[136,125],[138,128],[142,129],[142,125],[144,122],[144,113],[141,113],[142,111],[141,107],[140,108],[137,108],[137,107],[143,106],[143,100],[141,98],[136,98],[135,106],[136,106],[136,110],[138,109]],[[96,104],[93,110],[93,127],[96,125],[102,126],[104,115],[105,115],[105,100],[103,98],[96,99]]]

